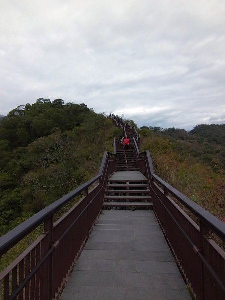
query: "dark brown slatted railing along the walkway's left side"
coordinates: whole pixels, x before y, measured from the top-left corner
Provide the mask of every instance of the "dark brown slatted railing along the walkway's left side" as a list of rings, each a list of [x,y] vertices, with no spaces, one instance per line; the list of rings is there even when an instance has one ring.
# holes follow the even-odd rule
[[[115,155],[105,152],[97,176],[0,238],[1,256],[44,223],[43,234],[0,273],[0,300],[51,300],[60,294],[102,210],[107,178],[115,166]],[[82,192],[83,197],[53,223],[54,214]]]

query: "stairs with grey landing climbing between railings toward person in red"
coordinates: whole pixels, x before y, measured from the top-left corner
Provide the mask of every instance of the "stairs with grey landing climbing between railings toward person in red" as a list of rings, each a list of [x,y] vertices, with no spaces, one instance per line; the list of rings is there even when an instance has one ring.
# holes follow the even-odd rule
[[[116,172],[108,179],[103,207],[152,208],[148,179],[139,171],[133,138],[127,134],[128,150],[116,151]],[[124,209],[124,208],[123,208]]]

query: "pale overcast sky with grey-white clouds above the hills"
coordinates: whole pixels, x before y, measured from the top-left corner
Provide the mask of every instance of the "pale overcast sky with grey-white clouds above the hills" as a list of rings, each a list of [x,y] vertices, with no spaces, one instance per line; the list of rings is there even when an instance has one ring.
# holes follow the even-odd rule
[[[138,127],[225,123],[225,1],[0,0],[0,114],[40,97]]]

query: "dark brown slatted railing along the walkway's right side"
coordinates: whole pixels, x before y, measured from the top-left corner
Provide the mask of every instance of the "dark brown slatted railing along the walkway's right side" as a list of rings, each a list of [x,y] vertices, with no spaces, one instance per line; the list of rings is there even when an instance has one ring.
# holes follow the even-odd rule
[[[197,300],[225,299],[225,224],[154,173],[149,151],[139,153],[141,171],[150,181],[153,209],[177,262]],[[182,204],[196,221],[177,205]]]

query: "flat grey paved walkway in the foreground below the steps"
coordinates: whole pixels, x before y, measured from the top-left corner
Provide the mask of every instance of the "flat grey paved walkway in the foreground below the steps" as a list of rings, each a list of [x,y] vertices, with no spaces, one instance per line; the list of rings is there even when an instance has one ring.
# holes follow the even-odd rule
[[[103,210],[60,300],[191,300],[153,211]]]

